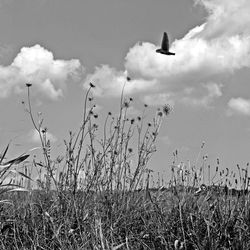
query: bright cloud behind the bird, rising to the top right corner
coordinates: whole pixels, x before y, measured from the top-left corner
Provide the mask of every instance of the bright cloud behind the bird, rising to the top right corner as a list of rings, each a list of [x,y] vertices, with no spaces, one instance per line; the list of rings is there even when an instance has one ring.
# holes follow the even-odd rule
[[[176,56],[156,54],[154,44],[138,43],[125,58],[128,72],[152,78],[192,73],[200,78],[250,66],[250,2],[197,2],[208,11],[207,20],[172,43]]]

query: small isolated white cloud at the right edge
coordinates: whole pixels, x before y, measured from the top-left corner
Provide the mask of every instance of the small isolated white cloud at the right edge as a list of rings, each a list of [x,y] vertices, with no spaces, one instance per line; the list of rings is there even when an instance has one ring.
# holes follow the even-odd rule
[[[228,102],[229,107],[229,115],[232,115],[233,113],[238,113],[242,115],[250,115],[250,100],[238,97],[238,98],[232,98]]]

